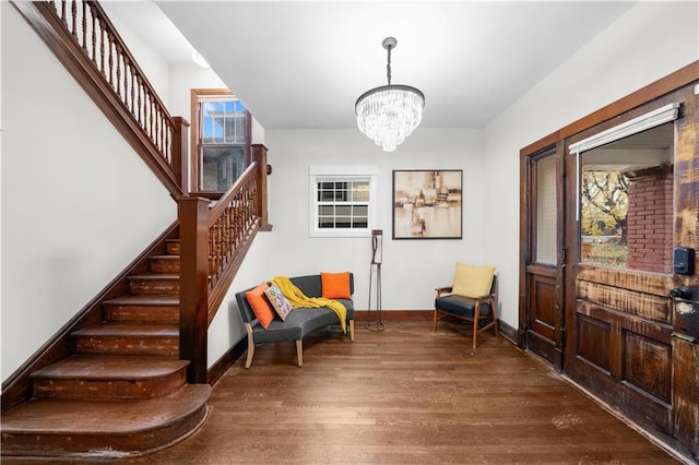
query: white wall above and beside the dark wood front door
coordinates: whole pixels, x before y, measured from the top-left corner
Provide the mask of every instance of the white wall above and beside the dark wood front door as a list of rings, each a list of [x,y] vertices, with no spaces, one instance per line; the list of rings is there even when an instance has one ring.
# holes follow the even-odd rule
[[[639,2],[485,129],[484,249],[501,273],[507,323],[518,326],[520,148],[697,59],[697,2]]]

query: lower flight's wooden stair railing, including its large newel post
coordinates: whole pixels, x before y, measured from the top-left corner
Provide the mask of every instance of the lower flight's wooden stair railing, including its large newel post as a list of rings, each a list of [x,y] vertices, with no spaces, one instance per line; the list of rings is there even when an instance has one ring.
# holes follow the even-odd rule
[[[252,239],[270,230],[266,210],[266,148],[252,145],[252,163],[211,205],[201,196],[180,199],[180,358],[190,360],[188,381],[208,382],[208,330]]]

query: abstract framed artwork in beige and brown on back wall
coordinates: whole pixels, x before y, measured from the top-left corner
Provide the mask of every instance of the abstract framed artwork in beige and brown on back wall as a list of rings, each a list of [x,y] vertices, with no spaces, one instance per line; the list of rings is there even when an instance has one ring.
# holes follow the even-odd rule
[[[461,169],[393,170],[393,239],[461,239]]]

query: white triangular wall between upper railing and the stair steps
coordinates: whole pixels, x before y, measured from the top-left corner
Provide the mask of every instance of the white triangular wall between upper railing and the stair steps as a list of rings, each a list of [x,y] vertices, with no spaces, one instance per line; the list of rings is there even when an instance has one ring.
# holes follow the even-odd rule
[[[177,212],[14,7],[0,8],[4,380]]]

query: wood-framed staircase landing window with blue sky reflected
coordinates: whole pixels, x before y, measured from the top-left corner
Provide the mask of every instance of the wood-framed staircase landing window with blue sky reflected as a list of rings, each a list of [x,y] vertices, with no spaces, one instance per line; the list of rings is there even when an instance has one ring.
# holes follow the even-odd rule
[[[226,192],[250,164],[250,114],[227,90],[192,90],[192,184]]]

